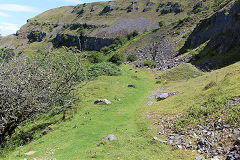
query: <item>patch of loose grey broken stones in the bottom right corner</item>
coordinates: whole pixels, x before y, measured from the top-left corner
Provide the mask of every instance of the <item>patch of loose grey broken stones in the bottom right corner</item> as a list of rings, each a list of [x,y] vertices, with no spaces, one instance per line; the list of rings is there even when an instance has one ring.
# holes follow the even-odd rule
[[[177,131],[174,126],[181,115],[166,114],[157,117],[158,122],[155,125],[158,126],[158,134],[167,136],[167,144],[179,149],[197,151],[211,160],[240,159],[239,125],[230,125],[222,118],[208,118],[205,120],[206,124],[188,127],[186,131]],[[204,156],[198,155],[196,159]]]

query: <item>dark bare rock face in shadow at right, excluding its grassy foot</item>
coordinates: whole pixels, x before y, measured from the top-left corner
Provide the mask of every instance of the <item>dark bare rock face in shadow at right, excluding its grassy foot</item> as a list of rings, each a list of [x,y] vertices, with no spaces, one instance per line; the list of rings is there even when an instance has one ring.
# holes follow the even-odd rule
[[[240,5],[229,4],[229,10],[217,12],[210,18],[202,20],[190,35],[185,47],[194,49],[206,41],[208,45],[218,46],[223,53],[230,48],[240,49]]]

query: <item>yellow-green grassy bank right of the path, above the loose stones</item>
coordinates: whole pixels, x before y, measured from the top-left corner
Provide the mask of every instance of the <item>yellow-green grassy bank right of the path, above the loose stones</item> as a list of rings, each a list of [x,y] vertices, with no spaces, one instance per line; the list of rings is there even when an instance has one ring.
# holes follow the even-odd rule
[[[203,123],[206,118],[217,117],[222,117],[233,125],[239,125],[239,106],[226,107],[224,105],[227,100],[240,96],[239,64],[240,62],[237,62],[209,73],[198,71],[200,75],[196,78],[189,77],[195,73],[181,66],[161,73],[160,77],[171,80],[164,83],[161,81],[160,86],[171,86],[164,92],[179,91],[180,94],[158,102],[147,112],[149,114],[154,112],[157,115],[169,114],[169,116],[185,115],[176,126],[180,130]]]

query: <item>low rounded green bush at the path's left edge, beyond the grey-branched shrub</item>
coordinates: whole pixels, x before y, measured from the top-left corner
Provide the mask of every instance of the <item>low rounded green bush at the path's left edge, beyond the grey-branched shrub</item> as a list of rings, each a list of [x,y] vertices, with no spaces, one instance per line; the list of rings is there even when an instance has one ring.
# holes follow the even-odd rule
[[[121,69],[111,63],[111,62],[102,62],[94,64],[88,69],[87,76],[89,79],[96,78],[98,76],[118,76],[121,74]]]

